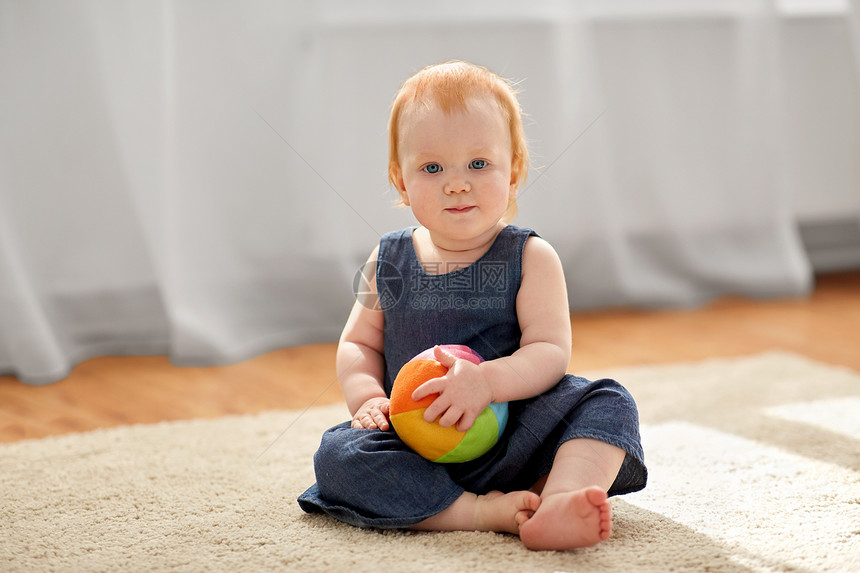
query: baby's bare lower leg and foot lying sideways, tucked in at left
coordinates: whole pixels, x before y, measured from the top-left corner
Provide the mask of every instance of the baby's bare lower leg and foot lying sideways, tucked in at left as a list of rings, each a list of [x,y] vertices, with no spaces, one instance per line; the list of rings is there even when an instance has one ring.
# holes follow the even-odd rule
[[[444,511],[410,529],[519,533],[519,524],[534,515],[538,505],[540,497],[531,491],[491,491],[487,495],[466,492]]]

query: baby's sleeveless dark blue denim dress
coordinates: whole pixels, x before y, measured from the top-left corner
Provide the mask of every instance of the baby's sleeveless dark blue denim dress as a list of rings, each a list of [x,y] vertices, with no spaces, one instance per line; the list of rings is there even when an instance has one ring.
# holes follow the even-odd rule
[[[413,230],[388,233],[379,244],[376,283],[385,317],[388,395],[400,368],[436,344],[463,344],[485,360],[517,350],[523,248],[536,235],[509,225],[484,256],[448,272],[418,261]],[[528,382],[528,372],[519,374]],[[566,374],[543,394],[508,407],[499,442],[483,456],[458,464],[422,458],[393,429],[339,424],[322,436],[314,456],[317,481],[299,496],[299,505],[360,527],[408,527],[441,512],[466,491],[530,488],[549,473],[559,446],[573,438],[597,439],[626,452],[609,495],[645,487],[639,415],[618,382]]]

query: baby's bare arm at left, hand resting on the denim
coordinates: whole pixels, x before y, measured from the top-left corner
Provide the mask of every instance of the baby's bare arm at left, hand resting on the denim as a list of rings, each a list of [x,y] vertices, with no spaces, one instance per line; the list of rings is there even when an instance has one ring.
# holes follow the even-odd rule
[[[353,427],[388,429],[388,398],[383,388],[385,359],[383,355],[382,311],[376,292],[378,247],[365,265],[365,282],[369,286],[355,301],[340,336],[336,367],[338,381],[353,415]]]

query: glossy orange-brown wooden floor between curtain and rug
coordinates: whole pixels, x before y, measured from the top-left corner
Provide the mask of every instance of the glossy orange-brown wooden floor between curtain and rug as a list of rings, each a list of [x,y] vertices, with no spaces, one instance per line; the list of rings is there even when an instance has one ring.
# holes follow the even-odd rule
[[[782,349],[860,371],[860,271],[819,277],[803,299],[725,298],[687,311],[571,317],[571,372]],[[164,357],[104,357],[61,382],[0,377],[0,442],[162,420],[305,408],[342,399],[333,344],[233,366],[177,368]]]

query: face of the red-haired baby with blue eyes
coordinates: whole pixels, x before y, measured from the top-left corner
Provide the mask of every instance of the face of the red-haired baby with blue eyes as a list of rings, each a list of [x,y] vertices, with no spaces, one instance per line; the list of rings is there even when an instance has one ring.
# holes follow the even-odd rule
[[[510,130],[495,100],[451,113],[404,110],[398,152],[398,191],[431,233],[467,240],[495,232],[516,189]]]

